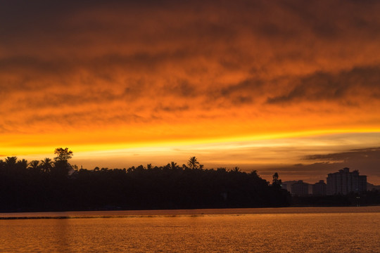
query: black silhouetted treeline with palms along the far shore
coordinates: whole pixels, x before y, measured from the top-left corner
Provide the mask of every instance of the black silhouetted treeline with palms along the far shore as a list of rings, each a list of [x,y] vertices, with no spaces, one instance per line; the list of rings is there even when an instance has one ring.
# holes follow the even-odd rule
[[[182,166],[72,169],[72,152],[54,160],[0,160],[0,212],[99,209],[286,207],[289,193],[239,168],[203,169],[196,157]]]

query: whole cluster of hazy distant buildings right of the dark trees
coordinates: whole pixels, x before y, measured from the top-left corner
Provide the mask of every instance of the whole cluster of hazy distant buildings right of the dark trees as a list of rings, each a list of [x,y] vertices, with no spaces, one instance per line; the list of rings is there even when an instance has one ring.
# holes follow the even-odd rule
[[[361,193],[367,190],[367,176],[359,175],[359,171],[340,169],[338,172],[327,175],[327,183],[320,180],[317,183],[305,183],[299,181],[286,181],[282,188],[289,190],[292,195],[346,195],[348,193]]]

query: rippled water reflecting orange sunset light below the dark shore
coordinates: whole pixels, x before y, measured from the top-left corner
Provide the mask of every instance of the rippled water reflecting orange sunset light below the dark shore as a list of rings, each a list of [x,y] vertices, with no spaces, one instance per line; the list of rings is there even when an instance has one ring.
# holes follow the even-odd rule
[[[380,207],[0,214],[0,252],[379,253]]]

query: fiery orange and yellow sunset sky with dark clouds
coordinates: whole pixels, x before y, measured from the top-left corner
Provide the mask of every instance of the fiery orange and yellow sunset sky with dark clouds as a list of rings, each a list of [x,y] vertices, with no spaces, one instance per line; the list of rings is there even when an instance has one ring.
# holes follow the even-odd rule
[[[0,159],[380,184],[379,1],[0,6]]]

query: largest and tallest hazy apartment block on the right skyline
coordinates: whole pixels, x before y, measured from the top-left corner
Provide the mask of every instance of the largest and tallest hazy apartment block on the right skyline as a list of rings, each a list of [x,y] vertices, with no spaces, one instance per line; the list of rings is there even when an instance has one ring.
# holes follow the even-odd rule
[[[350,172],[350,169],[344,168],[327,175],[327,195],[346,195],[365,190],[367,190],[367,176],[360,176],[357,170]]]

